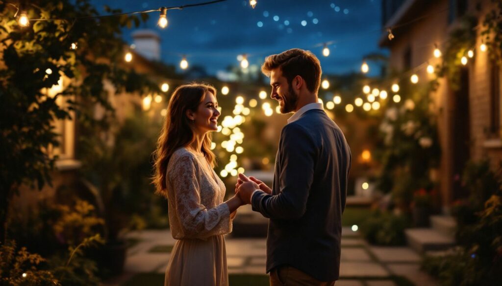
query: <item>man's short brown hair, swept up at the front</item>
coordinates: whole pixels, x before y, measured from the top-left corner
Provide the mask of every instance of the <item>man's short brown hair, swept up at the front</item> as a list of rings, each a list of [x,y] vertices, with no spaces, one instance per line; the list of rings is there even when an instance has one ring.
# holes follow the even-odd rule
[[[280,68],[288,84],[296,76],[303,78],[310,92],[317,93],[321,85],[321,64],[310,51],[291,49],[278,55],[271,55],[265,59],[262,72],[270,77],[272,70]]]

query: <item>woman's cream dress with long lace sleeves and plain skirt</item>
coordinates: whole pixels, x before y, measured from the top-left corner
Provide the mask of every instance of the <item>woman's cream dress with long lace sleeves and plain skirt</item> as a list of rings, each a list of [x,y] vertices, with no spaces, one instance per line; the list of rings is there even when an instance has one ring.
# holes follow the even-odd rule
[[[169,223],[175,239],[165,285],[228,285],[225,239],[232,231],[225,185],[203,156],[185,148],[167,167]]]

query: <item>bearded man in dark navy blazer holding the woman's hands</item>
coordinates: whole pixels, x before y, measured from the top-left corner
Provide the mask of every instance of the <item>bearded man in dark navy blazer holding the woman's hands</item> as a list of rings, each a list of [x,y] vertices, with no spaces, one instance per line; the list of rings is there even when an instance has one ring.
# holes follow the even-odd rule
[[[270,218],[271,285],[334,285],[351,154],[340,128],[317,103],[319,60],[292,49],[266,58],[271,98],[295,112],[281,131],[272,188],[239,174],[236,192]]]

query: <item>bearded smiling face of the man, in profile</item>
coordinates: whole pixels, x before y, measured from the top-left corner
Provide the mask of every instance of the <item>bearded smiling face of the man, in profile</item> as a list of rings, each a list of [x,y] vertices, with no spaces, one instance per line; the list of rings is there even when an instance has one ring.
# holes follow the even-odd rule
[[[281,113],[286,114],[295,111],[298,95],[295,94],[293,87],[288,84],[288,80],[283,77],[280,68],[274,69],[270,73],[270,85],[272,86],[270,97],[279,101]]]

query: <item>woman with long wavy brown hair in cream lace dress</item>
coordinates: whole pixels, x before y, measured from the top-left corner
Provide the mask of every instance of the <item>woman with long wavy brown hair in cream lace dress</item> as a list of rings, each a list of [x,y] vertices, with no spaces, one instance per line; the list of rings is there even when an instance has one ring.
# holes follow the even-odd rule
[[[225,185],[214,170],[211,131],[218,129],[216,90],[203,84],[178,87],[169,102],[157,144],[154,182],[169,203],[175,239],[165,285],[228,285],[224,234],[242,204],[223,202]]]

